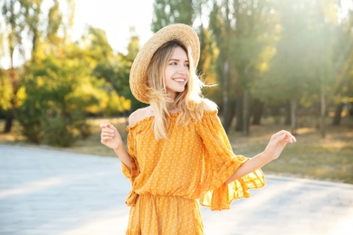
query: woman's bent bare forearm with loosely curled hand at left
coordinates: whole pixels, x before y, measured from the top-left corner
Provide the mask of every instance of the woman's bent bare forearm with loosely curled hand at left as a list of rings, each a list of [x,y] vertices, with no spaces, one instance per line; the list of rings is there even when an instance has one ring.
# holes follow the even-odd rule
[[[115,154],[119,156],[122,164],[125,164],[131,170],[130,155],[121,139],[121,136],[116,127],[108,122],[100,124],[100,142],[114,150]]]

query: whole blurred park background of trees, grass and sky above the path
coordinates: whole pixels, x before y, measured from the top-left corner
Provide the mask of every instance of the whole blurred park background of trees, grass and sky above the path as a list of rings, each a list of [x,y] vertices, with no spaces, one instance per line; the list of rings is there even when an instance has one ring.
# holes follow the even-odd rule
[[[128,3],[129,2],[129,3]],[[113,155],[144,105],[129,90],[139,48],[163,26],[192,25],[197,72],[234,152],[254,155],[281,128],[297,136],[275,174],[353,183],[352,0],[2,0],[0,142]]]

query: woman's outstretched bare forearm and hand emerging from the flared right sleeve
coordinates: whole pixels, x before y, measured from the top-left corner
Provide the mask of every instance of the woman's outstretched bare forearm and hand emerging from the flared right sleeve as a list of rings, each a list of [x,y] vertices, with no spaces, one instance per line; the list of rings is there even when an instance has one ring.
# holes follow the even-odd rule
[[[291,133],[288,131],[281,130],[277,132],[272,135],[269,144],[261,154],[255,155],[245,162],[225,181],[225,183],[231,183],[246,174],[252,173],[263,165],[270,163],[272,160],[277,159],[288,143],[295,143],[296,141],[295,137],[291,136]]]

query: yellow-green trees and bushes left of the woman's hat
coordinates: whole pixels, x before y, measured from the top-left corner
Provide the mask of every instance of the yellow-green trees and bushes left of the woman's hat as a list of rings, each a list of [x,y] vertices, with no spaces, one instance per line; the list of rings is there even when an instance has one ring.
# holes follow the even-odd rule
[[[113,52],[105,32],[92,27],[72,42],[74,2],[67,1],[65,14],[57,0],[48,12],[42,3],[1,3],[7,39],[1,47],[10,55],[10,68],[0,70],[0,108],[6,114],[5,132],[17,118],[29,141],[71,146],[90,135],[87,117],[130,110],[129,66],[138,52],[138,37],[128,55]],[[14,65],[16,52],[23,52],[22,66]]]

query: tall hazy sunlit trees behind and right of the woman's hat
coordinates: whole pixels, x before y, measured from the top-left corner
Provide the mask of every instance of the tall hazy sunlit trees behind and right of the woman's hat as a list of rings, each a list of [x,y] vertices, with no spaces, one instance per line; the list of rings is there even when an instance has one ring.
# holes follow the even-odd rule
[[[226,131],[236,118],[235,129],[247,136],[266,107],[283,107],[295,133],[299,110],[311,108],[324,137],[328,107],[337,103],[338,124],[343,100],[352,99],[352,9],[339,1],[156,0],[154,14],[154,31],[173,23],[198,31],[198,70],[216,74],[220,86],[207,93]]]

